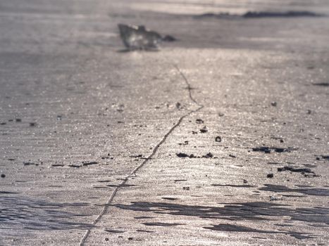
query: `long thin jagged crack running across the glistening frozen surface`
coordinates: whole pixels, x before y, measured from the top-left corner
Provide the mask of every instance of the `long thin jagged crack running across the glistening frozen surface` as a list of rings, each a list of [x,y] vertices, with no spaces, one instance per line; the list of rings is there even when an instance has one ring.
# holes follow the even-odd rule
[[[180,68],[178,67],[178,65],[173,65],[175,67],[175,69],[179,72],[180,76],[182,77],[182,79],[184,79],[185,84],[187,84],[187,90],[189,91],[189,96],[190,96],[190,100],[197,104],[199,106],[199,108],[197,108],[196,110],[190,110],[190,112],[187,112],[186,115],[183,115],[182,117],[180,117],[180,119],[178,119],[178,122],[170,128],[170,130],[166,133],[165,136],[163,136],[163,138],[161,139],[161,141],[154,147],[151,155],[149,155],[149,157],[147,157],[141,164],[139,164],[138,167],[136,167],[128,176],[125,177],[125,179],[116,187],[116,189],[113,191],[111,197],[108,199],[108,201],[106,202],[106,204],[104,205],[103,210],[101,210],[101,213],[99,214],[99,216],[97,216],[97,218],[92,222],[92,225],[96,225],[100,220],[101,217],[106,214],[108,207],[111,205],[111,202],[113,201],[114,197],[116,196],[116,193],[118,193],[118,190],[120,188],[122,188],[123,186],[125,186],[125,183],[127,183],[127,181],[130,179],[130,177],[135,176],[135,174],[137,173],[137,171],[139,169],[141,169],[142,167],[144,167],[145,164],[147,164],[147,162],[149,162],[149,160],[151,160],[151,158],[156,154],[156,152],[158,151],[158,149],[160,148],[160,146],[167,140],[168,136],[177,128],[180,126],[180,124],[182,123],[182,120],[185,119],[187,116],[191,115],[194,112],[198,112],[199,110],[201,110],[202,108],[204,108],[204,105],[202,105],[201,103],[197,102],[194,97],[192,96],[192,86],[190,84],[190,82],[187,80],[187,78],[185,77],[184,73],[180,70]],[[80,246],[85,245],[85,242],[89,236],[91,229],[87,229],[85,235],[83,236],[81,242],[80,242]]]

